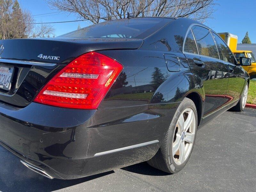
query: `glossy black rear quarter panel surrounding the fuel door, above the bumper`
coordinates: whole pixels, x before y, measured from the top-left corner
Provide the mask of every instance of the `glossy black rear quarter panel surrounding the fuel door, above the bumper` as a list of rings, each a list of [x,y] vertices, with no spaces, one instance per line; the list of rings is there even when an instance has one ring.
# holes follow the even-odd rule
[[[116,59],[124,66],[100,108],[176,103],[189,92],[201,90],[183,53],[149,50],[100,53]],[[175,54],[179,58],[180,71],[168,71],[165,53]]]

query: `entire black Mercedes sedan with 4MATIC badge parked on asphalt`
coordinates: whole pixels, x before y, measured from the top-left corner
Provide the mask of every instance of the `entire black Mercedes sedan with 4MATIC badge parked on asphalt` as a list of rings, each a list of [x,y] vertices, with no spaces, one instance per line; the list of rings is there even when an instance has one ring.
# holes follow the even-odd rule
[[[0,144],[48,178],[188,162],[196,132],[245,107],[249,75],[213,30],[129,18],[0,41]]]

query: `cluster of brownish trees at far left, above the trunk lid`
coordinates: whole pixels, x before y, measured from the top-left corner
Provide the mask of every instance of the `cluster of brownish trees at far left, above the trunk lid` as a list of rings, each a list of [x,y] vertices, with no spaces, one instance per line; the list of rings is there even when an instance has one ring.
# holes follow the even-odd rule
[[[17,0],[0,0],[0,39],[42,37],[52,34],[50,25],[36,25],[31,13]]]

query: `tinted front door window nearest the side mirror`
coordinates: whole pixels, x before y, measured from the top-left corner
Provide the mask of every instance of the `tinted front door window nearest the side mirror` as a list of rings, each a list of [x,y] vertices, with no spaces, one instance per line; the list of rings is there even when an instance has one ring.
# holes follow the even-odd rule
[[[235,58],[230,49],[228,48],[228,46],[215,33],[212,33],[212,35],[214,36],[215,42],[217,44],[220,53],[220,59],[235,64]]]

